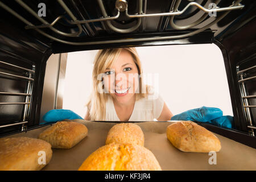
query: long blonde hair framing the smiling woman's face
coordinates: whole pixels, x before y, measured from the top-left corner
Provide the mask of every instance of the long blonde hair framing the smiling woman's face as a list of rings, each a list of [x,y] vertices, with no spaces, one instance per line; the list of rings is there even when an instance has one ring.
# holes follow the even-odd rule
[[[98,79],[98,75],[104,73],[106,68],[110,68],[114,61],[119,56],[119,53],[125,49],[129,51],[131,56],[133,56],[133,60],[135,65],[137,65],[138,74],[139,74],[139,93],[135,94],[136,100],[140,98],[146,97],[148,94],[149,86],[143,85],[143,77],[142,77],[142,67],[141,61],[139,60],[138,53],[135,47],[127,47],[127,48],[112,48],[112,49],[101,49],[98,51],[93,66],[93,86],[92,93],[90,95],[89,101],[86,104],[87,109],[89,111],[89,119],[92,121],[104,121],[106,115],[106,101],[108,101],[109,94],[108,93],[100,93],[98,92],[98,85],[101,84],[102,80]],[[145,93],[141,93],[141,90],[146,91]]]

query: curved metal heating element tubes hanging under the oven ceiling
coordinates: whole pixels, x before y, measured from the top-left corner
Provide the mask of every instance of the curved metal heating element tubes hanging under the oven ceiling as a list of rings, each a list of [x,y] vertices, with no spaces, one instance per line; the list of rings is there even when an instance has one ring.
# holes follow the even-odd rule
[[[19,15],[13,9],[6,6],[2,2],[0,2],[0,7],[5,9],[9,13],[13,14],[16,18],[21,20],[23,23],[27,24],[25,29],[34,29],[35,31],[38,31],[40,34],[46,36],[49,39],[55,40],[56,42],[73,45],[73,46],[110,44],[110,43],[125,43],[125,42],[142,42],[142,41],[152,41],[152,40],[170,40],[170,39],[186,38],[188,36],[192,36],[192,35],[198,34],[199,32],[202,32],[202,31],[206,30],[207,28],[209,28],[210,26],[212,26],[213,24],[217,23],[222,18],[224,18],[228,13],[230,13],[230,11],[242,9],[244,7],[244,5],[241,5],[241,3],[240,3],[242,0],[235,0],[233,2],[233,4],[230,5],[229,7],[218,7],[217,5],[221,0],[216,0],[215,1],[216,2],[216,7],[214,7],[214,8],[207,9],[207,8],[201,6],[199,3],[190,2],[190,3],[188,3],[187,6],[184,7],[183,10],[178,10],[178,7],[180,5],[181,0],[177,0],[177,1],[175,0],[175,1],[172,2],[171,9],[168,13],[145,14],[142,11],[143,0],[139,0],[138,13],[134,14],[134,15],[130,15],[130,14],[128,14],[128,3],[125,0],[117,0],[115,2],[115,9],[117,9],[117,15],[108,16],[108,14],[106,13],[106,10],[105,10],[105,7],[104,7],[104,4],[103,4],[102,0],[97,0],[98,5],[100,6],[101,13],[102,13],[103,16],[101,18],[98,18],[98,19],[77,20],[76,16],[72,13],[72,11],[68,8],[68,6],[65,5],[63,0],[57,0],[59,2],[60,6],[65,10],[65,12],[71,17],[72,20],[68,20],[63,15],[60,15],[60,16],[57,16],[57,18],[55,20],[53,20],[52,23],[48,23],[46,20],[41,18],[34,10],[32,10],[28,5],[26,5],[26,3],[24,3],[22,0],[15,0],[15,1],[16,1],[16,3],[18,3],[20,6],[22,6],[25,10],[27,10],[32,16],[34,16],[36,19],[38,19],[43,24],[41,24],[39,26],[36,26],[36,25],[32,24],[27,19],[23,18],[22,15]],[[175,24],[174,23],[174,16],[183,14],[191,6],[196,6],[201,11],[204,11],[205,12],[204,15],[201,16],[200,19],[198,19],[195,22],[193,22],[191,24],[188,24],[186,26],[178,26],[177,24]],[[125,11],[125,15],[129,18],[137,18],[138,19],[137,24],[135,26],[127,28],[127,29],[121,29],[121,28],[117,28],[117,27],[113,26],[113,24],[110,20],[114,20],[114,19],[119,18],[119,15],[120,15],[121,11]],[[68,36],[68,37],[76,37],[76,36],[79,36],[82,32],[81,24],[90,23],[90,22],[106,22],[108,27],[111,30],[113,30],[114,32],[129,33],[129,32],[133,32],[133,31],[137,30],[137,28],[141,25],[142,18],[155,17],[155,16],[170,16],[171,17],[170,18],[170,25],[171,25],[172,28],[174,28],[175,30],[186,30],[188,28],[195,27],[197,24],[200,24],[200,23],[204,22],[205,18],[208,16],[209,13],[220,12],[220,11],[226,11],[226,12],[224,14],[222,14],[221,16],[216,17],[215,20],[213,20],[212,22],[210,22],[206,26],[204,26],[202,28],[199,28],[198,30],[195,30],[195,31],[192,31],[192,32],[189,32],[189,33],[186,33],[186,34],[164,36],[164,37],[133,38],[133,39],[119,39],[119,40],[101,40],[101,41],[91,41],[91,42],[70,42],[70,41],[67,41],[67,40],[56,38],[55,36],[49,35],[46,32],[42,31],[42,28],[50,28],[53,32],[56,32],[59,35]],[[53,26],[60,19],[65,19],[65,21],[67,21],[69,24],[76,24],[76,26],[78,28],[78,31],[72,32],[72,33],[67,33],[67,32],[62,32],[60,30],[57,30]]]

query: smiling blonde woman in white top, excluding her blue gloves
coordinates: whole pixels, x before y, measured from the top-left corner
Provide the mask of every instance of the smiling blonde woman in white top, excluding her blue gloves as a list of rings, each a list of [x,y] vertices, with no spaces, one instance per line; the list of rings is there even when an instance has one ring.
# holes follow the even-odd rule
[[[169,121],[171,111],[152,88],[143,85],[141,61],[134,47],[101,49],[94,60],[93,90],[85,120]]]

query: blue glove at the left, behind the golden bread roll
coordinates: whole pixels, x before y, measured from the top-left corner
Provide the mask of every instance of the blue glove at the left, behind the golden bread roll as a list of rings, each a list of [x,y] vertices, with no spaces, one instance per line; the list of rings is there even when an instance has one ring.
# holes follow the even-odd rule
[[[82,119],[79,115],[72,110],[67,109],[53,109],[49,110],[43,116],[43,120],[46,122],[63,121],[63,119]]]

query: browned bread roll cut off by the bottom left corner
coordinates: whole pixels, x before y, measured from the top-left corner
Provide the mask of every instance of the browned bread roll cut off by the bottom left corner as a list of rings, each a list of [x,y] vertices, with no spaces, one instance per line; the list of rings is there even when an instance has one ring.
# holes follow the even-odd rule
[[[0,171],[40,170],[51,158],[51,144],[44,140],[28,137],[0,138]]]

